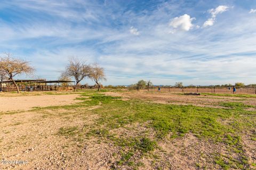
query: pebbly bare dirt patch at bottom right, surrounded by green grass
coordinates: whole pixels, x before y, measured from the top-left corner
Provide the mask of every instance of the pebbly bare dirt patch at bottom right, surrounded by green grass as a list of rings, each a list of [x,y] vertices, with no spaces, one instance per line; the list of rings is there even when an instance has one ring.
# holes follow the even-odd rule
[[[215,169],[217,167],[213,166],[214,153],[223,152],[223,146],[198,139],[190,133],[173,140],[167,138],[158,145],[160,149],[154,154],[159,157],[159,162],[155,164],[159,169]],[[153,159],[147,157],[143,162],[146,169],[152,169]]]

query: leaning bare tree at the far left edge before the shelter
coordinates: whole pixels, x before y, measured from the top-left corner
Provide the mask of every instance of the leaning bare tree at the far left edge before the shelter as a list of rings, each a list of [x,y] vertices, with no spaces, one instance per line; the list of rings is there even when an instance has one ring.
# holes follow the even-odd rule
[[[9,53],[5,53],[5,56],[0,58],[0,70],[5,72],[7,78],[13,82],[18,94],[20,90],[13,77],[19,74],[31,75],[35,71],[35,69],[29,65],[29,62],[13,58]]]

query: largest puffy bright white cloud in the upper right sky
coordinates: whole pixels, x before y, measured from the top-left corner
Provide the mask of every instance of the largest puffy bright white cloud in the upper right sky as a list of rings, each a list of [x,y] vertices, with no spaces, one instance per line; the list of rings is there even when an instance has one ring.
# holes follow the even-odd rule
[[[192,21],[195,18],[190,18],[190,16],[188,14],[184,14],[182,16],[179,17],[175,17],[171,22],[170,22],[170,26],[172,26],[175,29],[181,29],[183,31],[189,31],[192,27]]]

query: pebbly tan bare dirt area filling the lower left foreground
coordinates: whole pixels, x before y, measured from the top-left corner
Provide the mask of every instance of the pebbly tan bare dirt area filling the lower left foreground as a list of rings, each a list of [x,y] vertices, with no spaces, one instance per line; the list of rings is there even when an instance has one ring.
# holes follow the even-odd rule
[[[87,109],[81,109],[79,113],[75,111],[68,115],[62,110],[1,115],[0,157],[4,160],[27,160],[28,163],[6,164],[0,168],[110,169],[115,152],[110,143],[86,139],[81,145],[72,136],[58,135],[60,128],[76,127],[86,131],[86,127],[93,125],[98,118]]]

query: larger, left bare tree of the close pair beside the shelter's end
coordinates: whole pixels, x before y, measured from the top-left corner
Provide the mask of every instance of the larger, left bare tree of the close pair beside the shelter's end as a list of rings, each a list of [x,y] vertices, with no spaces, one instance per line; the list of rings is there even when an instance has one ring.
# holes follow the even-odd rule
[[[90,65],[86,65],[84,61],[73,57],[69,59],[69,64],[66,66],[66,70],[61,74],[61,77],[73,77],[76,80],[76,87],[74,90],[76,91],[78,83],[84,78],[89,77],[90,70]]]

